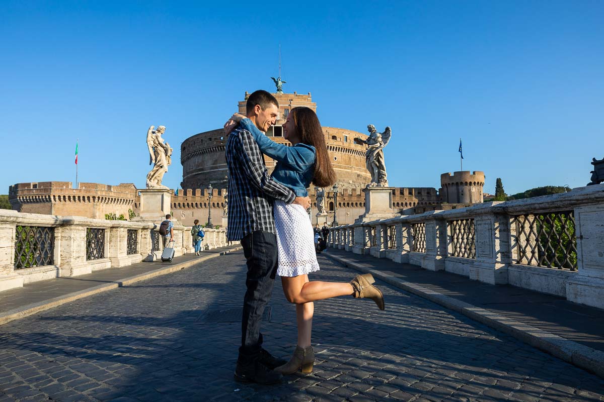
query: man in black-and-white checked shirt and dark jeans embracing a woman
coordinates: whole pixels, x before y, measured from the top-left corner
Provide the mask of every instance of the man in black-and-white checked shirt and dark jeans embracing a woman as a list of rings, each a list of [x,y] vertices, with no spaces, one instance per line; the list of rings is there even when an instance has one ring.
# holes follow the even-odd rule
[[[249,95],[246,115],[261,131],[277,121],[278,102],[270,93],[258,90]],[[252,134],[236,128],[226,139],[229,213],[226,237],[240,240],[248,266],[243,298],[242,339],[235,369],[240,382],[277,383],[281,374],[272,371],[286,363],[262,348],[260,321],[271,298],[277,273],[277,237],[272,218],[272,201],[281,199],[307,209],[309,197],[296,198],[288,187],[272,180]]]

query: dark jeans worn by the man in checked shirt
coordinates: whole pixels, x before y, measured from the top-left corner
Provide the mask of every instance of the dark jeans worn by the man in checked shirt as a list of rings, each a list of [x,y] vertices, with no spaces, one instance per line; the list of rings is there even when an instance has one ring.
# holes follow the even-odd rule
[[[260,322],[277,274],[277,237],[254,231],[243,237],[241,245],[248,265],[239,348],[239,362],[245,364],[255,360],[262,349]]]

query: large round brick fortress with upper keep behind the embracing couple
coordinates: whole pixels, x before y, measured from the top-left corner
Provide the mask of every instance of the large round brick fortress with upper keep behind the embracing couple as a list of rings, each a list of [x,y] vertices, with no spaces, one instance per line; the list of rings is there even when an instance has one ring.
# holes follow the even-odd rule
[[[273,93],[279,102],[282,119],[271,127],[267,136],[278,143],[289,145],[283,138],[282,125],[292,108],[306,106],[316,111],[310,93]],[[247,99],[248,93],[245,93]],[[245,114],[246,101],[239,102],[239,113]],[[366,139],[367,135],[344,128],[323,127],[327,151],[336,171],[338,186],[341,189],[362,189],[371,181],[365,168],[365,146],[354,143],[355,137]],[[228,186],[228,172],[225,159],[226,138],[224,130],[205,131],[184,140],[181,145],[182,189],[202,189],[212,184],[217,189]],[[265,156],[269,172],[275,167],[275,161]]]

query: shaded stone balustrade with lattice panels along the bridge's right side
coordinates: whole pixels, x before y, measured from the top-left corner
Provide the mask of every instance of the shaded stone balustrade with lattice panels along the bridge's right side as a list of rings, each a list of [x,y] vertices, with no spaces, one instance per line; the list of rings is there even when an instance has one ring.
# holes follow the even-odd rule
[[[328,244],[604,309],[604,184],[342,225]]]

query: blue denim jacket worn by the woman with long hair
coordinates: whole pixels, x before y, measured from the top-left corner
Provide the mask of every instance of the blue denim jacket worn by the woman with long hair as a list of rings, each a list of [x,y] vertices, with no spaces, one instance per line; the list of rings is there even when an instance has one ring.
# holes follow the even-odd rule
[[[287,146],[274,142],[258,130],[250,119],[243,119],[239,124],[254,136],[260,152],[277,161],[271,177],[292,189],[296,196],[307,196],[306,189],[315,174],[315,147],[303,143]]]

